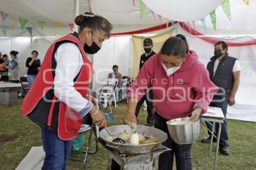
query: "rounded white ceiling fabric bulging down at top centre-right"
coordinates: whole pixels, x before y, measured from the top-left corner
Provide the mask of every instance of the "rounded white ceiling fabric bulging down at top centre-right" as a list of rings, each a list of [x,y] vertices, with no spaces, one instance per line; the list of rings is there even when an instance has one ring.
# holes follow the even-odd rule
[[[214,11],[223,0],[142,0],[155,13],[173,21],[198,21]]]

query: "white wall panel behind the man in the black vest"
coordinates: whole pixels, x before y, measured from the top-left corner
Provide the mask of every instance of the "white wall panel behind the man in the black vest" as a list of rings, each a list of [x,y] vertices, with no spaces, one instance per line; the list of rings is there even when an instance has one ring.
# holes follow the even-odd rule
[[[186,38],[189,49],[195,50],[199,60],[206,66],[214,55],[214,45],[197,37],[187,36]],[[228,41],[242,42],[252,39],[252,37],[242,37]],[[256,45],[229,47],[228,53],[238,59],[242,71],[239,89],[236,93],[236,105],[228,107],[227,118],[256,122]]]

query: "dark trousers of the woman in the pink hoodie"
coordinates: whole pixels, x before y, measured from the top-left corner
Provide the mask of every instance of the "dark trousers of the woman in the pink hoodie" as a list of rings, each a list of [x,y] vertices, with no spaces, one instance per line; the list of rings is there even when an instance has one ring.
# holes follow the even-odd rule
[[[173,159],[175,154],[176,168],[177,170],[192,170],[192,144],[176,144],[168,132],[166,122],[168,120],[161,117],[155,112],[155,128],[158,128],[165,133],[167,133],[168,138],[162,143],[162,145],[171,149],[171,151],[166,151],[161,153],[158,160],[159,170],[172,170],[173,169]]]

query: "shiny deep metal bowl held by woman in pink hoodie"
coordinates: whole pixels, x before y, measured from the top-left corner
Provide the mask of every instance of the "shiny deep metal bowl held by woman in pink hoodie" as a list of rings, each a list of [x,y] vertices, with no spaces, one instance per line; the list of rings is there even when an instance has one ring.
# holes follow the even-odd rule
[[[200,120],[192,122],[190,117],[172,119],[166,122],[172,140],[177,144],[192,144],[200,132]]]

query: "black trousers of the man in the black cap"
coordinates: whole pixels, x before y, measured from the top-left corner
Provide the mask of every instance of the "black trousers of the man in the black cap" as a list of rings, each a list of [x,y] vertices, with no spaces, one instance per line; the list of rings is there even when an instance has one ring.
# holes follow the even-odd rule
[[[147,111],[148,111],[147,123],[150,125],[154,125],[154,107],[153,107],[153,102],[152,102],[152,100],[154,99],[154,95],[153,95],[152,90],[149,90],[147,93],[148,93],[149,99],[147,99],[147,94],[140,99],[140,101],[138,102],[138,104],[136,106],[135,115],[136,115],[136,117],[138,117],[140,107],[146,100]]]

